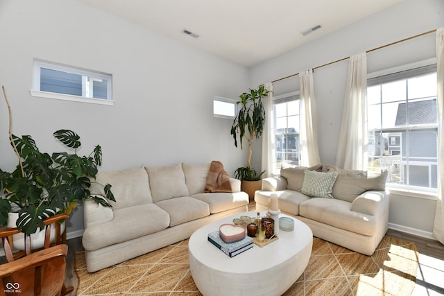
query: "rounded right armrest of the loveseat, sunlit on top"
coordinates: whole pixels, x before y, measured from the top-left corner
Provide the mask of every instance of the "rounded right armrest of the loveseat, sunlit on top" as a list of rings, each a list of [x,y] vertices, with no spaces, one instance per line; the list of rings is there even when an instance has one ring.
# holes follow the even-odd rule
[[[388,208],[388,191],[366,191],[352,202],[352,211],[377,216],[377,213]]]

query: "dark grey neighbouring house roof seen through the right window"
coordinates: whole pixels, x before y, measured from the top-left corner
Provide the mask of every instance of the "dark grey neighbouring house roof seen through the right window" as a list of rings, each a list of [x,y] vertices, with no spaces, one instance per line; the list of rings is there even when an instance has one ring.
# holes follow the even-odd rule
[[[398,105],[398,113],[396,114],[395,126],[406,125],[406,103]],[[408,124],[427,124],[436,123],[436,99],[426,101],[410,102],[409,122]]]

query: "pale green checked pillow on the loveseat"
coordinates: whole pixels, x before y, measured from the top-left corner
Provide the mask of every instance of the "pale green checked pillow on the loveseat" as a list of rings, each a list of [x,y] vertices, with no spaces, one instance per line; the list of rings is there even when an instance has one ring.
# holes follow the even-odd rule
[[[314,198],[333,198],[332,188],[338,172],[322,173],[306,170],[301,193]]]

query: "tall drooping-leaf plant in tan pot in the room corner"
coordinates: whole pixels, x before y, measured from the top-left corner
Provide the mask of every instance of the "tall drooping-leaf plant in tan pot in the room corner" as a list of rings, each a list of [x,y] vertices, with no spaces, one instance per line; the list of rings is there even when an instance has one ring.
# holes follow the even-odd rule
[[[234,138],[234,146],[237,147],[238,139],[243,149],[243,140],[248,142],[247,164],[237,168],[235,176],[241,180],[242,190],[248,193],[250,200],[254,198],[255,191],[260,189],[260,179],[265,171],[258,173],[251,168],[251,155],[253,153],[253,141],[262,137],[265,123],[265,109],[262,98],[269,93],[264,85],[258,89],[250,89],[250,92],[244,92],[239,98],[239,113],[234,117],[231,134]]]

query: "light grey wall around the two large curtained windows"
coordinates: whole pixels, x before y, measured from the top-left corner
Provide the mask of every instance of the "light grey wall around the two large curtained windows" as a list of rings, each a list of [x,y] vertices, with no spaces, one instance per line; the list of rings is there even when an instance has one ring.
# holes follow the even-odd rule
[[[406,0],[251,68],[250,85],[283,78],[442,26],[444,1]],[[368,72],[435,58],[435,35],[425,35],[373,51],[367,57]],[[314,71],[318,142],[323,164],[334,164],[336,159],[347,67],[348,60],[345,60]],[[275,95],[298,89],[298,76],[274,85]],[[255,152],[255,155],[258,154]],[[260,159],[256,157],[255,164],[259,162]],[[435,205],[434,200],[392,195],[389,216],[391,227],[408,227],[412,232],[418,230],[416,233],[429,236]]]

